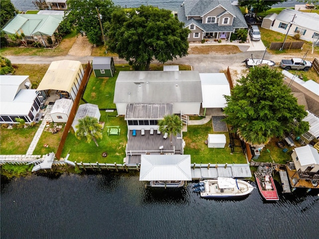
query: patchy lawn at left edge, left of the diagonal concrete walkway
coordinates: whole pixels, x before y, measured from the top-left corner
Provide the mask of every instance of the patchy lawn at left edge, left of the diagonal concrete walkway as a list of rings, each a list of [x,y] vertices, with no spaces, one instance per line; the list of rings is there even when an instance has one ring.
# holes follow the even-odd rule
[[[0,154],[25,154],[39,124],[28,128],[1,128]]]

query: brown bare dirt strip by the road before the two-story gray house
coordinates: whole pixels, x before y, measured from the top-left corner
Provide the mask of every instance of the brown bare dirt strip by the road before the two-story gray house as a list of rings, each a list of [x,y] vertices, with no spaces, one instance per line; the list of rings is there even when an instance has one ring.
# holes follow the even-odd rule
[[[228,55],[236,54],[241,52],[237,46],[228,45],[217,45],[217,46],[189,46],[188,54],[218,54],[218,55]]]

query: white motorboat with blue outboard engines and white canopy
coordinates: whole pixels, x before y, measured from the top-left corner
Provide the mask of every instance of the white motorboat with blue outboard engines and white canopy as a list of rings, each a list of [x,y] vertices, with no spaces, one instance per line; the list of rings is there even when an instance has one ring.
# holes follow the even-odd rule
[[[201,183],[204,184],[204,189],[200,191],[202,198],[240,197],[250,194],[254,189],[248,182],[234,178],[218,177]]]

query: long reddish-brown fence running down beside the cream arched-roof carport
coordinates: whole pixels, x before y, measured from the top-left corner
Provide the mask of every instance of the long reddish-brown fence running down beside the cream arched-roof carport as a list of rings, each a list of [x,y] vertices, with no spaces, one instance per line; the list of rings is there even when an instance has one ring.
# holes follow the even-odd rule
[[[90,78],[91,71],[92,71],[91,64],[90,64],[90,62],[88,62],[88,65],[86,66],[84,76],[83,76],[83,79],[82,79],[82,82],[81,82],[81,85],[80,85],[80,88],[78,91],[78,94],[76,95],[76,98],[73,102],[73,107],[71,109],[69,119],[65,124],[65,128],[64,128],[64,131],[63,131],[63,134],[61,137],[61,141],[60,141],[58,149],[56,150],[56,153],[55,153],[55,157],[57,159],[60,159],[60,157],[61,157],[61,153],[62,153],[62,149],[63,149],[64,143],[65,143],[66,137],[68,136],[68,132],[71,128],[73,119],[75,118],[75,114],[76,114],[76,111],[78,109],[79,102],[80,102],[81,97],[83,95],[85,86]]]

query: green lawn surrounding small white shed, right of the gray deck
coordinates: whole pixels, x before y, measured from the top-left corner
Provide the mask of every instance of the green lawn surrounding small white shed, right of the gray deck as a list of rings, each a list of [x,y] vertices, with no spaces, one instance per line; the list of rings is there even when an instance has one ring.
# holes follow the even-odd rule
[[[208,148],[204,141],[208,133],[224,133],[226,145],[224,148]],[[228,147],[229,132],[214,132],[211,120],[203,125],[188,125],[187,132],[183,132],[183,139],[186,146],[184,154],[191,155],[192,163],[247,163],[243,153],[234,152]]]

